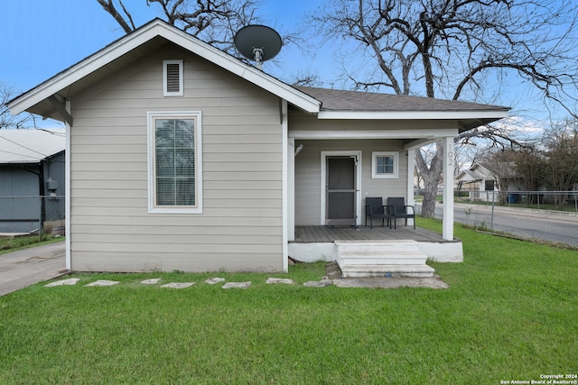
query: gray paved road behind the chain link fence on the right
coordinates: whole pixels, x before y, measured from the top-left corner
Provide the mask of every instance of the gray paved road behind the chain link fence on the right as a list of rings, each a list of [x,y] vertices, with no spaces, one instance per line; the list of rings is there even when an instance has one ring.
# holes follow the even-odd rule
[[[442,218],[442,205],[435,206],[435,216]],[[467,214],[469,213],[469,214]],[[454,222],[467,225],[485,225],[488,228],[550,242],[578,246],[578,215],[548,210],[456,204]]]

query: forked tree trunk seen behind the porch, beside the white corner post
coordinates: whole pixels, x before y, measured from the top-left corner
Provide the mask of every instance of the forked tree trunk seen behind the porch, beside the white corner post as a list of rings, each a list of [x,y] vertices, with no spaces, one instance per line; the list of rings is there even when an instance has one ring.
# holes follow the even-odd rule
[[[435,143],[435,155],[431,164],[427,165],[421,151],[415,151],[415,165],[424,178],[424,203],[422,204],[422,216],[433,218],[435,212],[435,197],[437,197],[437,187],[442,180],[443,168],[443,144]],[[451,177],[450,177],[451,178]]]

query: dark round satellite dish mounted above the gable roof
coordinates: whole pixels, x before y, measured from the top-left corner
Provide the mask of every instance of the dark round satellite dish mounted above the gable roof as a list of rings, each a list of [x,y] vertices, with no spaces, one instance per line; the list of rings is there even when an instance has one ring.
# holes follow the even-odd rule
[[[247,25],[238,30],[234,41],[241,55],[254,60],[258,69],[263,61],[275,58],[283,46],[279,33],[266,25]]]

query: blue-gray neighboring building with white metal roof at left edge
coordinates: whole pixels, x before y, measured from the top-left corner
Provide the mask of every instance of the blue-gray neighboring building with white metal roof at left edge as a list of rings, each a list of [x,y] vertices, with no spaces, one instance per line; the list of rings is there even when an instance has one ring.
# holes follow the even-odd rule
[[[0,233],[64,218],[65,144],[64,129],[0,130]]]

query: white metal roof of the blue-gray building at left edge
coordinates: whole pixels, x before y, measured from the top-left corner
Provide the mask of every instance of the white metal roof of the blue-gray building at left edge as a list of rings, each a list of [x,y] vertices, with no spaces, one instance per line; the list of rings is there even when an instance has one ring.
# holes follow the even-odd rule
[[[64,151],[64,129],[0,130],[0,164],[40,163]]]

